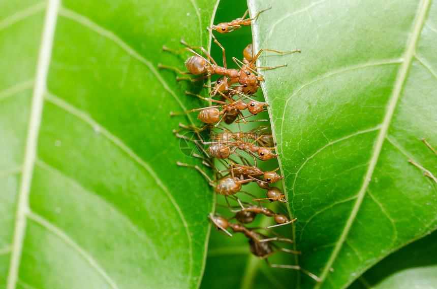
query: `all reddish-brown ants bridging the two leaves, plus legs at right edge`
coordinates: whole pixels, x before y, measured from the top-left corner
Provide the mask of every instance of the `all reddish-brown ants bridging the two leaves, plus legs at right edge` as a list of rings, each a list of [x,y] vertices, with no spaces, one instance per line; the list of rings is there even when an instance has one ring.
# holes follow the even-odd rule
[[[239,223],[231,223],[229,221],[230,219],[227,219],[222,215],[213,215],[212,213],[210,213],[208,215],[208,218],[214,224],[215,228],[219,232],[229,235],[230,237],[232,237],[232,234],[227,230],[228,228],[230,228],[234,233],[242,233],[243,235],[245,235],[249,239],[249,249],[251,250],[252,254],[262,260],[265,260],[268,266],[300,270],[301,272],[305,273],[309,277],[319,282],[320,278],[318,276],[308,272],[300,266],[271,264],[267,260],[270,256],[280,251],[288,252],[290,254],[300,254],[300,251],[294,251],[287,248],[279,247],[277,244],[273,243],[273,241],[293,243],[293,240],[284,238],[283,236],[269,230],[270,228],[292,224],[297,219],[290,220],[290,218],[286,214],[275,213],[271,209],[263,207],[261,205],[262,202],[287,202],[284,193],[279,188],[269,186],[269,184],[276,183],[278,180],[284,178],[275,172],[278,169],[275,169],[273,171],[264,171],[257,166],[256,162],[257,159],[266,161],[272,158],[276,158],[278,156],[273,152],[276,148],[273,137],[271,135],[271,131],[269,130],[270,127],[259,126],[247,132],[231,132],[227,128],[220,125],[222,122],[225,122],[226,124],[231,124],[234,122],[251,122],[247,121],[246,119],[251,116],[257,115],[258,113],[267,111],[267,102],[256,101],[252,98],[255,97],[254,94],[258,91],[258,88],[260,88],[260,82],[264,81],[263,76],[257,71],[257,69],[274,69],[287,66],[287,64],[273,67],[256,66],[255,62],[263,51],[271,51],[280,54],[300,52],[300,50],[280,52],[271,49],[261,49],[255,55],[252,44],[249,44],[243,51],[243,61],[238,60],[236,57],[232,57],[233,61],[237,64],[239,69],[227,68],[225,49],[219,43],[219,41],[216,40],[212,31],[216,31],[219,33],[228,33],[238,28],[241,28],[242,26],[249,26],[251,25],[252,21],[257,19],[261,12],[269,10],[270,8],[271,7],[259,11],[254,18],[244,19],[248,13],[248,11],[246,11],[241,18],[237,18],[235,20],[232,20],[231,22],[224,22],[217,25],[212,25],[211,27],[207,27],[214,42],[222,49],[223,66],[217,64],[217,62],[203,47],[192,47],[189,44],[185,43],[183,40],[181,40],[180,42],[186,46],[184,49],[175,51],[167,48],[166,46],[163,46],[163,50],[173,53],[189,51],[194,54],[185,61],[185,66],[186,69],[188,69],[188,72],[180,71],[177,67],[163,65],[161,63],[158,64],[158,67],[174,69],[182,75],[203,75],[197,79],[176,77],[178,81],[182,79],[189,79],[195,82],[207,79],[213,75],[220,76],[219,79],[211,83],[213,86],[210,87],[204,85],[205,87],[208,87],[210,89],[210,97],[220,97],[220,100],[202,97],[198,94],[185,91],[185,94],[187,95],[193,95],[204,100],[214,102],[217,105],[202,107],[200,109],[194,109],[191,111],[180,113],[170,112],[171,116],[175,116],[179,114],[199,111],[198,119],[206,123],[206,125],[202,128],[198,128],[193,125],[183,125],[182,123],[179,123],[180,129],[173,130],[173,132],[177,137],[195,142],[196,146],[205,156],[196,153],[193,153],[193,156],[201,158],[202,164],[215,170],[217,178],[215,180],[211,179],[208,174],[205,173],[197,165],[193,166],[181,162],[177,162],[177,164],[179,166],[193,167],[198,170],[208,180],[209,184],[214,187],[215,193],[225,196],[226,202],[231,212],[236,213],[232,219],[237,220]],[[198,52],[195,51],[195,49],[202,51],[206,55],[206,57],[200,55]],[[246,103],[245,99],[249,101]],[[242,111],[246,109],[251,115],[244,117]],[[203,140],[200,132],[206,129],[210,129],[211,127],[220,129],[223,132],[213,132],[211,134],[213,138],[212,141],[206,142]],[[181,135],[180,132],[182,130],[194,131],[199,136],[199,138],[192,139]],[[435,150],[429,145],[429,143],[425,139],[422,140],[435,154],[437,154],[437,152],[435,152]],[[210,146],[205,150],[202,145]],[[249,155],[251,155],[254,160],[254,165],[251,165],[251,163],[247,159],[238,155],[236,153],[237,149],[245,151]],[[237,155],[237,157],[241,160],[241,164],[238,164],[235,160],[231,159],[231,156],[233,155]],[[227,169],[217,169],[213,163],[213,159],[217,159],[218,161],[222,162],[222,164]],[[435,178],[431,172],[421,167],[419,164],[415,163],[412,160],[409,160],[409,162],[420,168],[422,171],[425,172],[426,176],[432,178],[434,182],[437,183],[437,178]],[[255,182],[260,188],[267,190],[267,198],[252,200],[254,202],[257,202],[258,205],[242,202],[238,199],[238,197],[235,196],[236,193],[240,192],[241,186],[249,182]],[[247,192],[243,193],[251,195]],[[237,209],[233,209],[233,207],[231,207],[228,201],[228,197],[233,198],[236,202],[238,202]],[[274,218],[274,221],[277,225],[269,226],[267,227],[267,230],[274,234],[275,237],[267,237],[257,232],[257,228],[248,228],[243,225],[252,223],[257,214],[264,214],[266,216]]]

